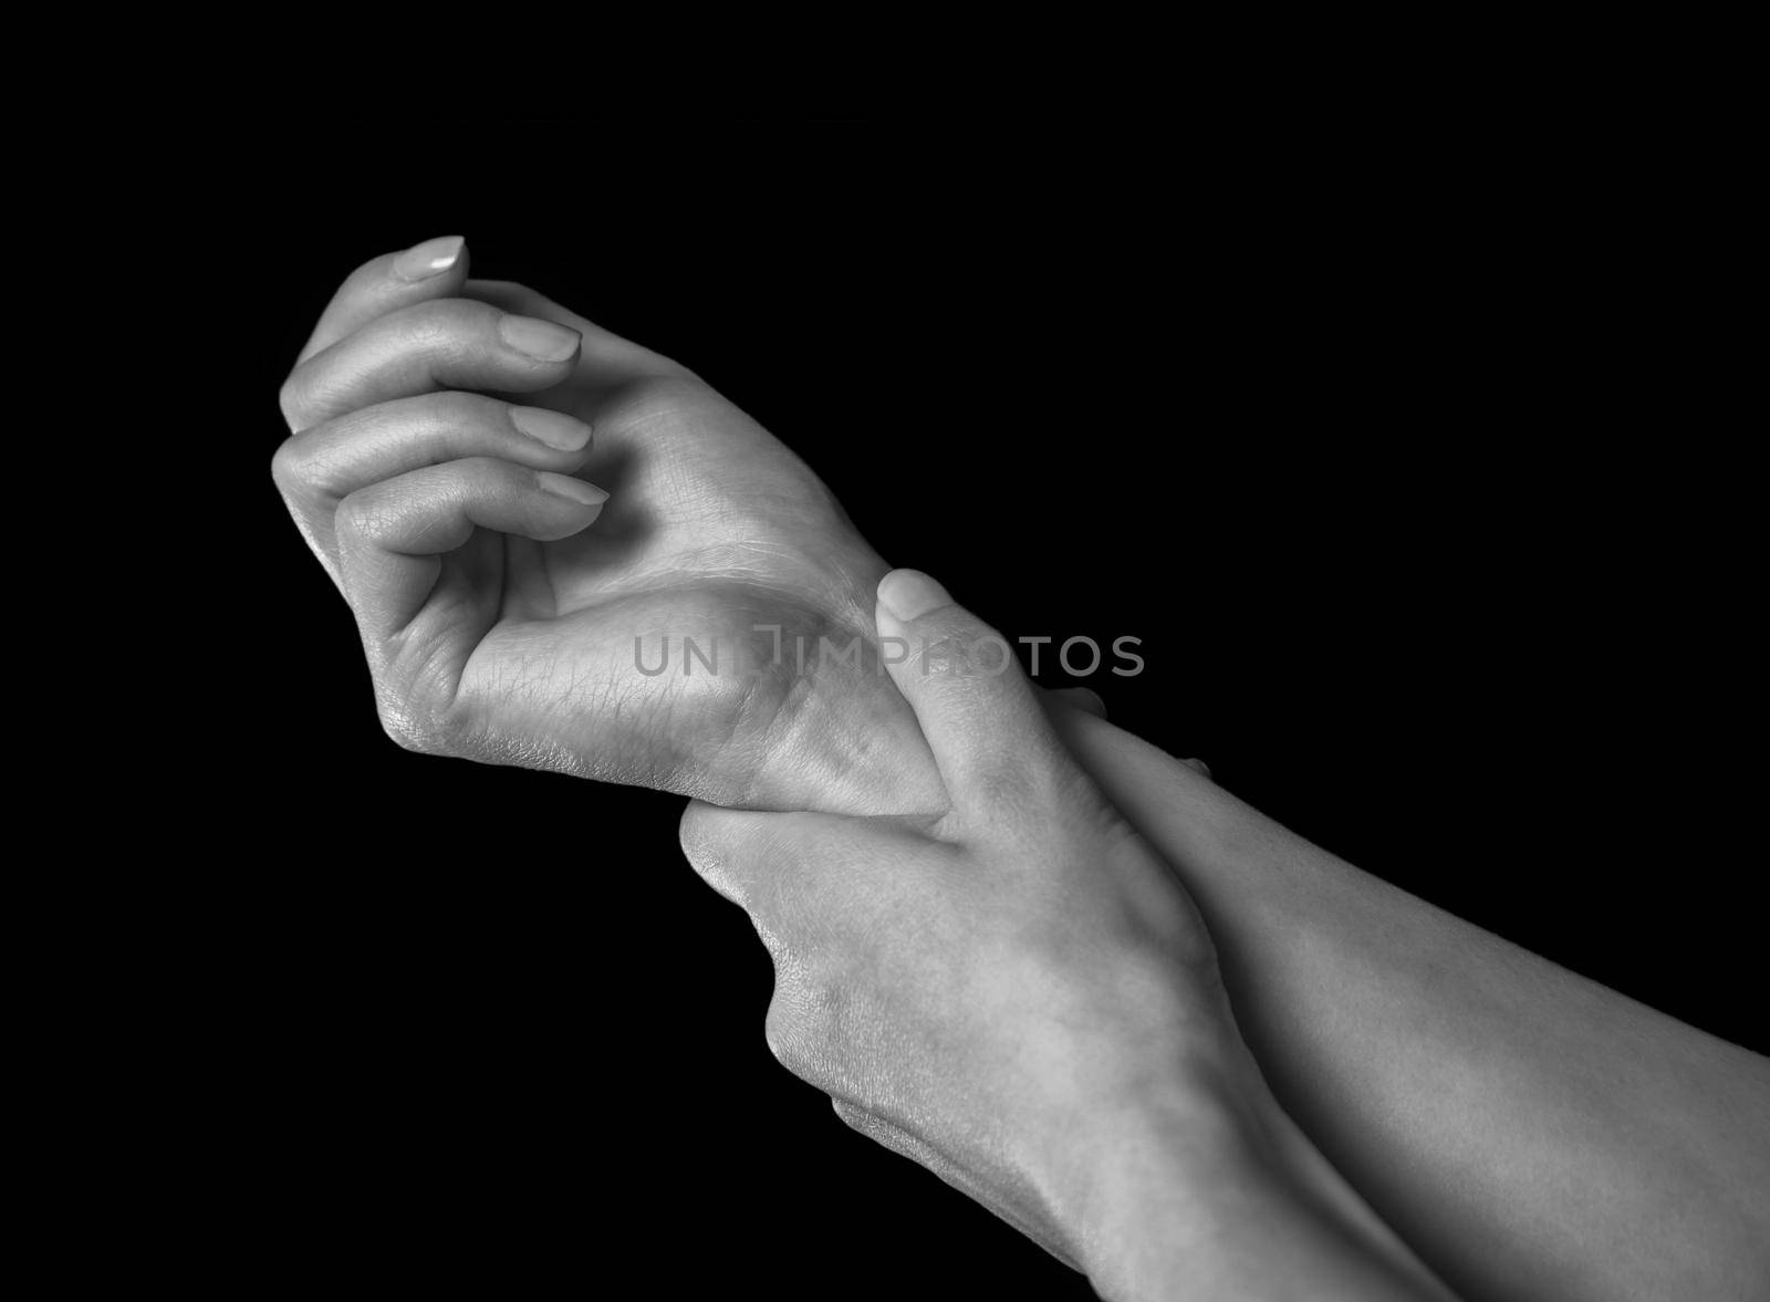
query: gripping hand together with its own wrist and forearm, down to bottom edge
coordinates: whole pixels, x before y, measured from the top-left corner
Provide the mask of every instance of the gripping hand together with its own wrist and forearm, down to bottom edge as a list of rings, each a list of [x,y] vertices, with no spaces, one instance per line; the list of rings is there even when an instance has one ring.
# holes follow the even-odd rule
[[[904,570],[878,623],[991,633]],[[1197,909],[1020,669],[942,665],[890,674],[943,816],[683,817],[773,957],[775,1056],[1110,1298],[1448,1297],[1273,1102]]]

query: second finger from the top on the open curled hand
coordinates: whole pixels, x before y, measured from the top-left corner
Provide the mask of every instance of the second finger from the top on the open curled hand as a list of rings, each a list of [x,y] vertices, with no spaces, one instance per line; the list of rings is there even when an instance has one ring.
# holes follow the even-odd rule
[[[536,393],[565,380],[582,340],[570,326],[437,299],[377,317],[290,371],[280,402],[290,430],[435,389]]]

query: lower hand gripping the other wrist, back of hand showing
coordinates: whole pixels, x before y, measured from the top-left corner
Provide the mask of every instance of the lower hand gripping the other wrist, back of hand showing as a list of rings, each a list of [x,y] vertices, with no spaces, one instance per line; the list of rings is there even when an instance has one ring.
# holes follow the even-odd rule
[[[1250,1063],[1197,911],[1069,761],[1005,646],[903,570],[878,632],[974,649],[890,667],[950,812],[694,803],[683,849],[773,957],[773,1054],[846,1122],[1076,1261],[1089,1168],[1115,1129],[1170,1106],[1220,1129]]]

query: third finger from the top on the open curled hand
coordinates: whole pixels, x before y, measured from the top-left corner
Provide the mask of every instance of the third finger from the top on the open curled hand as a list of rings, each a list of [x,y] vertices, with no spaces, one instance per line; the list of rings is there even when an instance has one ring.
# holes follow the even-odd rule
[[[563,412],[476,393],[430,393],[363,407],[285,439],[271,476],[308,545],[333,568],[333,515],[359,488],[466,456],[568,472],[584,463],[589,444],[591,428]]]

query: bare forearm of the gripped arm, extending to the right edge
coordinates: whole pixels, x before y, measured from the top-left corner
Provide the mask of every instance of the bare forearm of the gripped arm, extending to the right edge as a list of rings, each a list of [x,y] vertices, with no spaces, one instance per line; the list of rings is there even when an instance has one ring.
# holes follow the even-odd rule
[[[1179,869],[1274,1091],[1458,1291],[1747,1297],[1770,1070],[1395,890],[1064,711]]]

